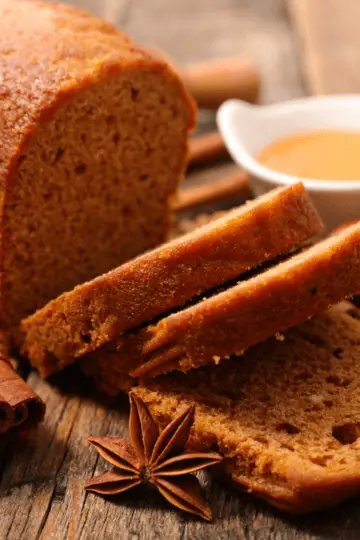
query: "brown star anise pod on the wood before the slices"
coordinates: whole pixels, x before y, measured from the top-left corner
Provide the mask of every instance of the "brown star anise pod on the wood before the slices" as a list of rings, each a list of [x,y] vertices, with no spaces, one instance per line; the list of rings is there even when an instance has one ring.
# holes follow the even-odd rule
[[[189,407],[161,433],[145,403],[130,394],[130,439],[90,437],[89,443],[114,467],[88,481],[85,489],[115,495],[141,483],[154,485],[161,495],[181,510],[211,520],[197,478],[190,474],[215,465],[222,457],[215,452],[186,452],[195,407]]]

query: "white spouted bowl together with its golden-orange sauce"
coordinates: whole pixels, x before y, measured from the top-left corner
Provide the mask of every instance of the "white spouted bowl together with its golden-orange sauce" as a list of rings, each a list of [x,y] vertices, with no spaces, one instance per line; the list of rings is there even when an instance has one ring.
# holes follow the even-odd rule
[[[360,94],[230,100],[217,123],[256,196],[301,180],[328,229],[360,219]]]

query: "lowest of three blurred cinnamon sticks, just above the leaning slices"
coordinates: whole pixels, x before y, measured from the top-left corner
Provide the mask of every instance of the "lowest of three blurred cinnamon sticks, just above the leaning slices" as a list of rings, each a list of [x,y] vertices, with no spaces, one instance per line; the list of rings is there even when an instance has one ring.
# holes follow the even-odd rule
[[[249,176],[240,172],[211,184],[182,189],[174,203],[175,212],[191,210],[205,204],[223,202],[233,197],[249,198],[251,195]]]

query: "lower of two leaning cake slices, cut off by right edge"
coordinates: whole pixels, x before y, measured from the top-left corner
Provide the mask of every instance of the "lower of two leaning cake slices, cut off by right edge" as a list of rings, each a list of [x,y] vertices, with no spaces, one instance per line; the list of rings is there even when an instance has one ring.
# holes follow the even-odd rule
[[[325,311],[359,290],[360,224],[250,279],[120,336],[82,359],[85,372],[117,393],[134,379],[188,371],[237,355]],[[89,367],[85,366],[89,362]]]

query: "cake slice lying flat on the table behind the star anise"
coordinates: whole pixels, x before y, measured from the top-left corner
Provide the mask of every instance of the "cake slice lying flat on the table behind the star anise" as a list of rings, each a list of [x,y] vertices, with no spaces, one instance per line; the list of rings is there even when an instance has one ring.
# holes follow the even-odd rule
[[[339,306],[249,349],[241,363],[133,391],[160,424],[195,403],[189,446],[223,454],[235,485],[292,513],[331,506],[360,492],[359,318]]]

